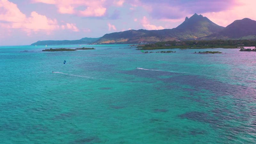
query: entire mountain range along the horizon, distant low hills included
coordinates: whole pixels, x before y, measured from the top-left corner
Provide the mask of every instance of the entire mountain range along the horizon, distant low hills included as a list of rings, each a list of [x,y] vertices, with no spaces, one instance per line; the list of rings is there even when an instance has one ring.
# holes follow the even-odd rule
[[[155,43],[159,41],[173,40],[212,40],[212,39],[256,39],[256,21],[248,18],[235,20],[226,28],[221,27],[207,17],[197,15],[196,13],[190,18],[186,17],[185,21],[177,28],[162,30],[127,30],[105,34],[100,38],[91,38],[86,41],[84,38],[74,41],[38,41],[35,44],[138,44]],[[93,41],[94,39],[94,41]],[[85,42],[86,41],[86,42]]]

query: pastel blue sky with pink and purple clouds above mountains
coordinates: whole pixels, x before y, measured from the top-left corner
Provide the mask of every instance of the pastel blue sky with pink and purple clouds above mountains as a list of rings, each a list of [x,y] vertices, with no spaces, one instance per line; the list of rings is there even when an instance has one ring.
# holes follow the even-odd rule
[[[255,5],[255,0],[0,0],[0,45],[172,29],[195,13],[226,27],[256,20]]]

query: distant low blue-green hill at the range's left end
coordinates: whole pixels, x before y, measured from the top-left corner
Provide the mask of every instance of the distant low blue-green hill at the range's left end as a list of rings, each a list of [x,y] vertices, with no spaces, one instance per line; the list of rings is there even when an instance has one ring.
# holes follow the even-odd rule
[[[31,45],[59,45],[59,44],[90,44],[97,41],[99,38],[89,38],[84,37],[80,40],[61,40],[61,41],[54,41],[54,40],[47,40],[47,41],[37,41]]]

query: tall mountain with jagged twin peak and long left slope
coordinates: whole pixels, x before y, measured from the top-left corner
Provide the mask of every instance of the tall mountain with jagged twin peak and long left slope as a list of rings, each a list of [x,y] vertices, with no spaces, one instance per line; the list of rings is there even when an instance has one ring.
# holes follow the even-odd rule
[[[196,13],[190,18],[186,17],[185,21],[177,28],[162,29],[162,30],[128,30],[116,32],[102,36],[95,43],[138,43],[147,42],[154,43],[158,41],[169,40],[185,40],[195,39],[203,36],[208,36],[214,32],[219,32],[224,27],[221,27],[202,15]]]

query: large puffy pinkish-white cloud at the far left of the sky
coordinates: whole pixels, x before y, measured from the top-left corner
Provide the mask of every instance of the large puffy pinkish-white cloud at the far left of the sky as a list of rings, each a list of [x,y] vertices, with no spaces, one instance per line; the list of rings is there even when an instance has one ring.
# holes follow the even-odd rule
[[[52,3],[50,0],[44,2]],[[21,29],[27,33],[28,36],[32,32],[43,31],[46,34],[51,34],[54,30],[71,29],[72,31],[79,31],[76,24],[67,23],[65,25],[58,25],[56,19],[49,19],[45,15],[40,15],[37,12],[31,12],[29,17],[20,12],[16,4],[8,0],[0,0],[0,28],[4,29]],[[3,30],[2,30],[3,31]]]

